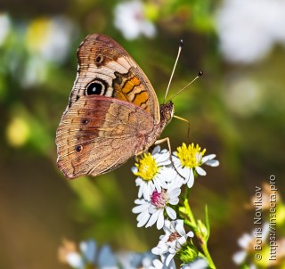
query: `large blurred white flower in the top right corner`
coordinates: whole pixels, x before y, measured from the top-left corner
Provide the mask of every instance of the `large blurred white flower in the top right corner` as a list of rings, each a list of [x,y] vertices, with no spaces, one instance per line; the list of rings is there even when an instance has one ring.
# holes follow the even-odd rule
[[[216,16],[220,47],[228,61],[251,63],[276,42],[285,43],[284,0],[225,0]]]

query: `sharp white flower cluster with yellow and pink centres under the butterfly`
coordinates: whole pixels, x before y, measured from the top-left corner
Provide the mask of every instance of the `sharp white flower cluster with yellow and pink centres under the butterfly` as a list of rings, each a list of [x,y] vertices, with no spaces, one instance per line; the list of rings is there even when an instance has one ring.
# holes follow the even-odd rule
[[[197,228],[196,230],[199,231],[201,226],[206,230],[207,228],[200,221],[196,224],[187,197],[183,200],[183,204],[187,205],[180,207],[179,197],[183,185],[185,189],[189,189],[193,186],[195,177],[206,175],[206,171],[201,166],[219,165],[215,159],[216,155],[205,156],[205,152],[206,150],[201,150],[198,144],[191,143],[187,146],[183,143],[170,156],[169,151],[161,151],[157,146],[151,153],[144,153],[141,158],[137,158],[132,169],[137,176],[135,183],[139,187],[138,199],[134,201],[136,206],[133,208],[133,213],[138,214],[137,226],[150,227],[156,224],[159,230],[163,228],[165,232],[160,236],[158,246],[151,250],[153,254],[161,257],[160,261],[155,262],[158,265],[157,268],[173,267],[171,263],[176,254],[184,265],[198,257],[197,249],[192,245],[191,240],[187,240],[192,238],[194,233],[185,232],[181,213],[190,216],[191,228]],[[205,237],[200,240],[208,240],[207,233],[205,232]],[[209,263],[211,262],[210,260]]]

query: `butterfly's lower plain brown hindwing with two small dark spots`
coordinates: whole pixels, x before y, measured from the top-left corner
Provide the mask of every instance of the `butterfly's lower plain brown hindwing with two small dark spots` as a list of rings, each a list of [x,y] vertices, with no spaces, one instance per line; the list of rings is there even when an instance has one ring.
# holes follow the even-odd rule
[[[58,167],[68,178],[101,175],[142,151],[153,119],[140,107],[105,96],[82,96],[57,130]]]

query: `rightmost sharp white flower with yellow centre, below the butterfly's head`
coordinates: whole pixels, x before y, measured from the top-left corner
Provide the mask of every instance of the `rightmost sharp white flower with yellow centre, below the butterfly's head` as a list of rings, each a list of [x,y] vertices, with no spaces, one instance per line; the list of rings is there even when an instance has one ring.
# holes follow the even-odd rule
[[[217,167],[219,165],[218,160],[215,159],[215,154],[203,157],[205,152],[206,150],[201,151],[198,144],[195,146],[194,143],[191,143],[187,147],[183,143],[173,154],[175,168],[184,177],[184,183],[187,183],[188,188],[191,188],[194,183],[194,171],[198,175],[206,175],[206,171],[200,167],[201,165],[206,164],[210,167]]]

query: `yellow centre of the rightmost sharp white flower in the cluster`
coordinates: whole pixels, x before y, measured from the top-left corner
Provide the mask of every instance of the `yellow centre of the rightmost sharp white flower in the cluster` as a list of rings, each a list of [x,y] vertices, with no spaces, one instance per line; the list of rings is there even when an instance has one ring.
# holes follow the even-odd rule
[[[201,158],[206,152],[206,149],[201,151],[199,144],[194,145],[191,143],[188,148],[185,143],[181,147],[177,148],[177,157],[180,159],[183,167],[199,167]]]

